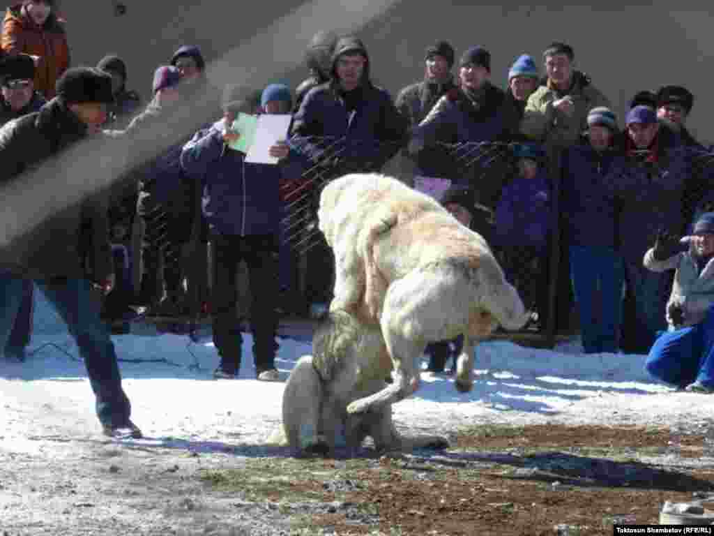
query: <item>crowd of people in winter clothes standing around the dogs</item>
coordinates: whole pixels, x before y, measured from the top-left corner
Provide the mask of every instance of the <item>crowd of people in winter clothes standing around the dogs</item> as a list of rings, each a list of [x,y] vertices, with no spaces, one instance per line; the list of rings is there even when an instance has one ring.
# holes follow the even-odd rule
[[[686,129],[694,99],[683,86],[639,91],[620,126],[596,81],[576,69],[568,44],[546,47],[543,74],[533,56],[514,59],[502,89],[491,74],[491,51],[471,46],[457,54],[441,40],[426,47],[421,79],[393,100],[374,83],[363,41],[326,31],[309,44],[309,76],[294,95],[269,81],[243,86],[236,74],[219,99],[201,51],[184,45],[157,67],[143,104],[127,88],[119,56],[70,67],[64,23],[51,0],[7,10],[1,54],[4,183],[75,144],[131,140],[198,96],[216,96],[215,117],[199,114],[160,154],[124,170],[119,187],[51,217],[24,239],[32,244],[1,259],[5,354],[22,359],[34,281],[77,339],[109,433],[137,432],[104,320],[126,320],[143,307],[164,318],[210,314],[221,356],[215,375],[237,377],[243,339],[236,269],[245,260],[256,374],[278,379],[278,310],[290,308],[281,297],[294,297],[296,279],[295,254],[283,247],[283,235],[297,196],[286,192],[314,203],[321,182],[378,172],[395,157],[404,182],[440,182],[441,193],[430,194],[491,244],[537,329],[548,314],[568,329],[575,307],[586,353],[651,349],[648,369],[661,379],[714,388],[708,372],[670,366],[680,341],[695,337],[680,330],[695,330],[695,343],[686,344],[698,344],[698,355],[708,356],[714,341],[714,227],[707,219],[714,189],[701,165],[710,149]],[[246,162],[233,149],[239,114],[291,114],[286,139],[270,149],[277,164]],[[464,151],[477,158],[464,158]],[[478,158],[484,154],[493,156]],[[310,213],[314,204],[301,210]],[[693,244],[687,251],[678,249],[685,235]],[[323,240],[307,260],[304,298],[328,303],[333,260]],[[141,268],[136,288],[133,266]],[[550,277],[555,267],[557,279]],[[556,285],[554,303],[549,284]],[[101,312],[93,289],[103,295]],[[660,334],[667,329],[677,335]],[[429,369],[441,372],[462,341],[432,343]]]

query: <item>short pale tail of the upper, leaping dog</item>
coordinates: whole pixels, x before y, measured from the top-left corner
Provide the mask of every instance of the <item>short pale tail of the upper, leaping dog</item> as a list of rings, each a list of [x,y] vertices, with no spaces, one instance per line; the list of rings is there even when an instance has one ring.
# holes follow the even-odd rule
[[[504,329],[521,329],[526,325],[531,313],[526,310],[516,287],[506,281],[503,270],[496,258],[485,257],[479,272],[486,289],[483,305]]]

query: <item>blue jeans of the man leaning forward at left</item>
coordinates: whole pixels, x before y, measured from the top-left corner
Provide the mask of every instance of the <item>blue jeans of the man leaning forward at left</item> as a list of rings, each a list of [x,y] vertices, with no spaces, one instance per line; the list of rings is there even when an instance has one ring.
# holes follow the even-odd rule
[[[86,279],[35,280],[69,328],[79,355],[84,359],[89,383],[96,397],[96,415],[103,425],[124,425],[129,420],[131,405],[121,388],[121,374],[114,343],[106,324],[99,318],[99,300],[92,295]],[[21,302],[21,279],[0,279],[0,347],[10,337]]]

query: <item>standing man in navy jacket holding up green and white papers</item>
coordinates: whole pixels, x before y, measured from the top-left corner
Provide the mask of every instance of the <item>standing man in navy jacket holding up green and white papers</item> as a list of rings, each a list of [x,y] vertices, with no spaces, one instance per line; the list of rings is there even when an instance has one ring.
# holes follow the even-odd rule
[[[213,376],[235,378],[240,371],[243,337],[236,315],[236,270],[245,259],[256,377],[277,381],[279,184],[292,164],[285,141],[291,94],[286,86],[271,84],[261,96],[264,114],[257,116],[250,95],[242,86],[226,88],[223,119],[198,131],[183,147],[181,166],[201,179],[203,215],[215,249],[211,312],[221,364]]]

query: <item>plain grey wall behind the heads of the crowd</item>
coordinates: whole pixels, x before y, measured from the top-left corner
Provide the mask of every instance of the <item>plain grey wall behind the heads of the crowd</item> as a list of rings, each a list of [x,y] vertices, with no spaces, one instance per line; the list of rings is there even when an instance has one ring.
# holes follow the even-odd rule
[[[235,58],[241,62],[228,64],[227,76],[234,81],[245,76],[257,86],[278,79],[296,84],[304,74],[301,58],[314,31],[353,29],[368,46],[373,79],[396,94],[421,78],[423,49],[436,39],[450,40],[457,54],[474,44],[486,46],[493,56],[493,81],[499,85],[506,83],[508,66],[519,54],[527,52],[540,61],[550,41],[567,41],[580,69],[613,101],[620,117],[636,91],[683,84],[695,94],[690,129],[714,142],[713,112],[706,98],[713,15],[693,3],[342,1],[343,6],[337,0],[273,0],[248,9],[247,3],[228,0],[124,0],[126,14],[116,16],[114,0],[59,0],[59,11],[68,21],[74,64],[95,64],[106,53],[119,54],[129,64],[129,85],[144,96],[155,67],[186,43],[201,46],[209,60],[240,45],[245,54]],[[378,17],[366,21],[371,10]],[[291,11],[298,22],[281,26],[286,31],[272,39],[273,21]],[[268,35],[251,39],[261,32]],[[217,82],[224,79],[226,72],[216,76]]]

